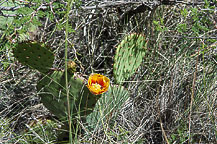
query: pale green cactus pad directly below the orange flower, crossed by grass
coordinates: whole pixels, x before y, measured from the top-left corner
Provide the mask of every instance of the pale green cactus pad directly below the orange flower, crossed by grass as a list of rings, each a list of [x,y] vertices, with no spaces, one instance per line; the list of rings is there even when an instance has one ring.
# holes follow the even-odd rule
[[[102,94],[94,111],[87,116],[87,129],[91,131],[114,120],[128,98],[129,93],[123,86],[110,86],[108,92]]]

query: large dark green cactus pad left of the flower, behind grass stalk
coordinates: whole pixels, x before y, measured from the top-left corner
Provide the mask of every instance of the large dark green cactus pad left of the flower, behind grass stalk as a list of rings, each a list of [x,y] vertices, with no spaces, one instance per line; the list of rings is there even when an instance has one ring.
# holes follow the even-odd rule
[[[101,95],[90,93],[79,76],[68,75],[68,83],[72,118],[78,114],[81,117],[90,114]],[[65,87],[65,73],[62,71],[54,71],[37,84],[38,95],[44,106],[63,121],[68,117]]]

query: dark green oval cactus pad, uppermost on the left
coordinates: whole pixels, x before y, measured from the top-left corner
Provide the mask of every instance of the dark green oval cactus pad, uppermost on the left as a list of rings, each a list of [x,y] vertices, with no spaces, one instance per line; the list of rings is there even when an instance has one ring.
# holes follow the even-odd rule
[[[19,43],[13,53],[19,62],[42,73],[48,72],[54,61],[54,54],[37,42]]]

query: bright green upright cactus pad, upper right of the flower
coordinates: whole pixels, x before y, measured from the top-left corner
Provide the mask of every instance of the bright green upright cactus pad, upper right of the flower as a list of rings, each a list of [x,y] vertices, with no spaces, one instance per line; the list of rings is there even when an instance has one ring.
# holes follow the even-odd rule
[[[130,78],[142,63],[147,42],[144,35],[131,34],[118,45],[115,54],[114,76],[118,84]]]

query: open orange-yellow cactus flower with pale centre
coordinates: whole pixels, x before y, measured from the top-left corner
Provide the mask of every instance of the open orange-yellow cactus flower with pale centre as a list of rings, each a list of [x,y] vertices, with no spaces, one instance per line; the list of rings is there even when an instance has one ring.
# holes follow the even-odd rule
[[[91,74],[88,79],[87,87],[94,95],[108,91],[110,80],[101,74]]]

